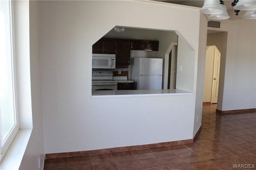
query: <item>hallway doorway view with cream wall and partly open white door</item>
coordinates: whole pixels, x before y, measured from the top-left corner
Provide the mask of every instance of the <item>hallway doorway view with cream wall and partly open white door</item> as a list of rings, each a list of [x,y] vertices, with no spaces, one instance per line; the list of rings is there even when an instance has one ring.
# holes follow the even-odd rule
[[[204,98],[206,104],[216,104],[220,78],[220,51],[215,45],[206,47]]]

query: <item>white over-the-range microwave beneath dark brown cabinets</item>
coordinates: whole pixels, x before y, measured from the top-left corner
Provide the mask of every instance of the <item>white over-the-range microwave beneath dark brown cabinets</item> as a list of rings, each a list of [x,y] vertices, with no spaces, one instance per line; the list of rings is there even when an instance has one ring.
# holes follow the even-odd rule
[[[116,68],[115,54],[92,54],[92,68]]]

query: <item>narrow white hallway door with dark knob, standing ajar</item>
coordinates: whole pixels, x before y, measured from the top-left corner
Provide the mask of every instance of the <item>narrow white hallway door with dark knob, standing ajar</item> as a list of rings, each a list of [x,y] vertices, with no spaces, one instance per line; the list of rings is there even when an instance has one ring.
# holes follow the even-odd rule
[[[214,56],[214,70],[213,70],[213,81],[212,81],[212,100],[211,103],[217,103],[218,100],[218,88],[220,78],[220,51],[215,47]]]

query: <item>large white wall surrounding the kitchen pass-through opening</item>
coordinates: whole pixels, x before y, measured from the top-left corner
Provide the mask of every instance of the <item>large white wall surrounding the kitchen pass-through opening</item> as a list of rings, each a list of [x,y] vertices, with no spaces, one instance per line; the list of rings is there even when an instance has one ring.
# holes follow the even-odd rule
[[[40,4],[45,153],[193,138],[195,95],[92,98],[91,53],[93,43],[115,25],[123,25],[178,30],[195,49],[197,61],[197,8],[151,1]]]

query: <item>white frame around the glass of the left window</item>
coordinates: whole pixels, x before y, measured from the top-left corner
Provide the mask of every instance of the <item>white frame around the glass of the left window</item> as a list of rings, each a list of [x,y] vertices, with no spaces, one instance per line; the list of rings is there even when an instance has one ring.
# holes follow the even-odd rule
[[[14,119],[15,125],[8,133],[8,137],[4,141],[3,145],[0,145],[0,160],[4,157],[4,154],[7,152],[10,147],[14,137],[19,131],[19,121],[18,121],[18,95],[17,95],[17,78],[16,78],[16,55],[15,55],[15,30],[14,30],[14,2],[8,0],[10,7],[10,28],[11,28],[11,56],[12,56],[12,85],[13,85],[13,98],[14,98]]]

